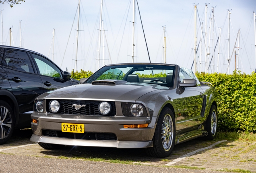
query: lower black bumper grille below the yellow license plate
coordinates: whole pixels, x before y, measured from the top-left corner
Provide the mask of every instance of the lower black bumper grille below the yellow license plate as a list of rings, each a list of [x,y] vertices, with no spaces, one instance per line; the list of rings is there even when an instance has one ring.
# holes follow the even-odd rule
[[[102,140],[102,141],[117,141],[114,133],[67,133],[62,131],[43,130],[43,136],[61,137],[68,139],[85,139],[85,140]]]

